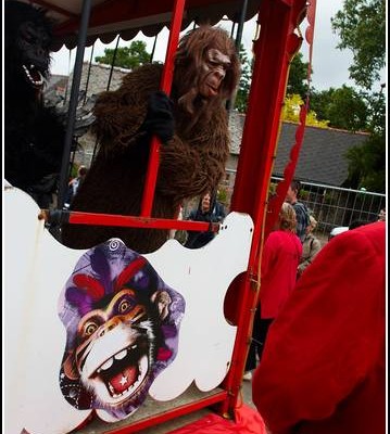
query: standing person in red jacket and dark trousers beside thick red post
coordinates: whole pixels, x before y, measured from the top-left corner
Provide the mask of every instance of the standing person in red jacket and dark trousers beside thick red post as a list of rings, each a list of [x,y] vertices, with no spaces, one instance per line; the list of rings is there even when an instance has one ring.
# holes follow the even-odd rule
[[[253,320],[244,380],[251,379],[251,371],[256,367],[256,356],[259,360],[262,358],[268,328],[295,285],[297,268],[302,256],[302,243],[295,234],[295,212],[292,205],[285,202],[276,230],[269,233],[264,243],[259,306]]]

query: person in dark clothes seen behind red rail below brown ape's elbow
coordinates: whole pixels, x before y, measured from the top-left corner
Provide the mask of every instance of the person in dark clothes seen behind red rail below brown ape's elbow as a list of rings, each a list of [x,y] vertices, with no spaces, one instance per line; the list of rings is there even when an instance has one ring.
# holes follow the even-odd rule
[[[205,193],[199,201],[197,209],[190,212],[188,220],[221,222],[226,217],[224,205],[217,201],[215,193]],[[188,231],[185,247],[199,248],[215,237],[212,231]]]

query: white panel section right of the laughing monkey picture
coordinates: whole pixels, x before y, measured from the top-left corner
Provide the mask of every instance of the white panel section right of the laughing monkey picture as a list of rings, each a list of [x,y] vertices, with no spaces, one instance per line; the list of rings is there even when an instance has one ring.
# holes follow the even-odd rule
[[[153,398],[173,399],[193,380],[201,391],[210,391],[225,378],[236,327],[224,317],[224,298],[232,279],[247,269],[251,240],[251,218],[231,213],[204,247],[189,250],[171,240],[146,255],[167,284],[180,288],[187,305],[178,355],[152,384]]]

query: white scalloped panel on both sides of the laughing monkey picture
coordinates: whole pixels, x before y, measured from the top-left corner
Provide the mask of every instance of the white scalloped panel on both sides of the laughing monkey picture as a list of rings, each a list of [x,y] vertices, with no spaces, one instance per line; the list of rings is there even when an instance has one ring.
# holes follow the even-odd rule
[[[87,251],[58,243],[37,216],[38,206],[24,192],[4,191],[4,420],[5,432],[66,433],[90,409],[73,407],[62,395],[60,369],[66,330],[59,318],[62,291]],[[152,383],[159,400],[181,394],[194,380],[201,391],[217,386],[228,369],[236,328],[223,315],[231,280],[248,264],[250,217],[232,213],[219,234],[198,251],[171,240],[144,255],[161,279],[186,302],[175,360]],[[104,411],[99,416],[111,418]]]

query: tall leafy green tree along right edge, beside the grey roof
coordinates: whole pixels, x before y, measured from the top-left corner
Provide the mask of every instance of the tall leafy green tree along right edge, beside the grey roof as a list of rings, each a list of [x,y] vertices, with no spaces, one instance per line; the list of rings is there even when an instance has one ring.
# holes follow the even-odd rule
[[[331,20],[341,42],[353,53],[350,77],[366,88],[369,139],[360,149],[348,153],[351,187],[383,192],[386,186],[386,102],[382,91],[372,92],[380,78],[386,61],[386,2],[385,0],[344,0],[343,8]]]

